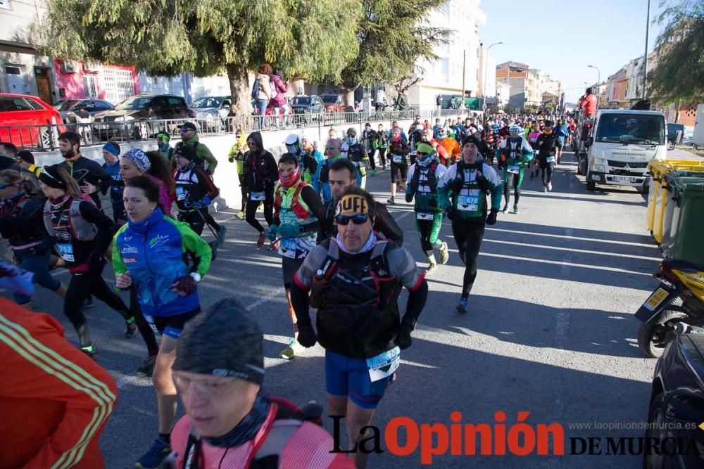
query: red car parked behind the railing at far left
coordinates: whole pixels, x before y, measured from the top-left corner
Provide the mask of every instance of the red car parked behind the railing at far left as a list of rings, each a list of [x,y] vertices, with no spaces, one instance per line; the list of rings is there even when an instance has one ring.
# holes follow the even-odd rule
[[[0,93],[0,141],[18,147],[56,148],[65,131],[61,114],[37,96]],[[47,127],[39,127],[44,126]]]

